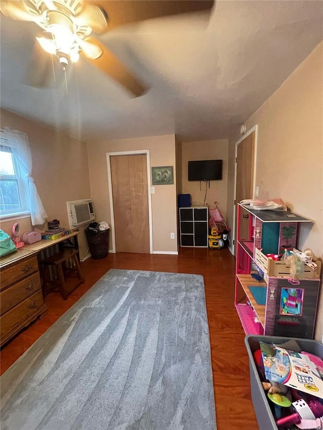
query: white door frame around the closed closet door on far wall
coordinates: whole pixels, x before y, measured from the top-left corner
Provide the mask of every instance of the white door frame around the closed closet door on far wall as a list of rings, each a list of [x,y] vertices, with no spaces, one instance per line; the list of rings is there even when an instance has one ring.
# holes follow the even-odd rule
[[[147,160],[147,191],[148,191],[148,217],[149,217],[149,254],[152,254],[152,211],[151,211],[151,193],[150,193],[150,154],[149,149],[137,151],[118,151],[106,153],[106,166],[107,166],[107,184],[109,187],[109,200],[110,200],[110,216],[111,216],[111,236],[112,236],[112,253],[116,253],[116,227],[115,215],[113,205],[113,192],[112,192],[112,177],[111,177],[111,159],[114,155],[146,155]]]

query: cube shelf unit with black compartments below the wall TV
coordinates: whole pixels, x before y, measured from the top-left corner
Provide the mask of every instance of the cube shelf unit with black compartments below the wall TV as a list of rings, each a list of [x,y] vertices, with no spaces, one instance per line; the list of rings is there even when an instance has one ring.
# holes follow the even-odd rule
[[[180,208],[181,247],[208,247],[208,208]]]

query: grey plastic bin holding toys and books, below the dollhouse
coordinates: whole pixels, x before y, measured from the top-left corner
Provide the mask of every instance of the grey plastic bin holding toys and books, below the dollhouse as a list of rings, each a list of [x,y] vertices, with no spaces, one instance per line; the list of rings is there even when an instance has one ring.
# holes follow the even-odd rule
[[[262,388],[261,381],[258,376],[257,366],[253,360],[252,354],[254,351],[259,349],[259,341],[279,344],[287,342],[291,339],[296,340],[303,351],[310,352],[323,359],[323,344],[315,340],[277,336],[245,337],[245,345],[249,355],[251,397],[260,430],[278,430],[278,427],[276,425],[271,408],[268,404],[266,393]]]

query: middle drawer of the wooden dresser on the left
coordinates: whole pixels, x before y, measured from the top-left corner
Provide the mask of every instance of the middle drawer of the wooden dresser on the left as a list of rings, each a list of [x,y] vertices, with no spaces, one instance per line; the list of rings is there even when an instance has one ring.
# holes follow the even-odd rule
[[[7,311],[14,308],[18,303],[25,300],[25,298],[40,290],[40,277],[36,272],[28,278],[23,279],[17,284],[6,288],[0,293],[0,311],[4,315]]]

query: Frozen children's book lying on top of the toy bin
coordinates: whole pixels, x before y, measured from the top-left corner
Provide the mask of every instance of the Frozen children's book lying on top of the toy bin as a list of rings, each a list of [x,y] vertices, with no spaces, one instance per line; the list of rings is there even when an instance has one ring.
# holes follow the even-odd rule
[[[259,342],[266,379],[323,399],[323,381],[307,355]]]

